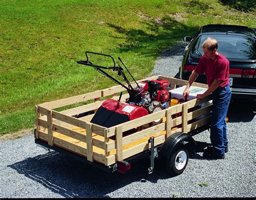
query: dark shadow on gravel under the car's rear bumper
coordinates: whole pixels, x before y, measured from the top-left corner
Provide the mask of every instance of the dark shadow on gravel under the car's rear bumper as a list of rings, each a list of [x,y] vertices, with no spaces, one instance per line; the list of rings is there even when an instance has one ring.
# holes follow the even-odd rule
[[[228,123],[250,122],[256,113],[256,103],[253,101],[231,101],[228,107]]]

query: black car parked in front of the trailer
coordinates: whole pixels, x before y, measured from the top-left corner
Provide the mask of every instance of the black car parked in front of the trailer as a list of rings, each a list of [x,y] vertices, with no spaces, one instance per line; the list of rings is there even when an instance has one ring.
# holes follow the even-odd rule
[[[255,30],[247,26],[210,24],[201,26],[183,54],[180,79],[188,80],[204,52],[201,48],[207,37],[218,41],[218,52],[230,61],[230,86],[232,99],[256,100],[256,37]],[[205,74],[199,74],[196,82],[206,84]]]

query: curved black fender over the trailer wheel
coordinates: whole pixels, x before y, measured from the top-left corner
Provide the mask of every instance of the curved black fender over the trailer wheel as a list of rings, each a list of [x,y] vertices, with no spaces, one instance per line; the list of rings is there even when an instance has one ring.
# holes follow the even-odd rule
[[[174,150],[176,150],[180,144],[184,144],[184,142],[191,142],[194,146],[197,145],[193,137],[187,133],[177,132],[170,135],[160,148],[160,157],[169,158],[174,153]]]

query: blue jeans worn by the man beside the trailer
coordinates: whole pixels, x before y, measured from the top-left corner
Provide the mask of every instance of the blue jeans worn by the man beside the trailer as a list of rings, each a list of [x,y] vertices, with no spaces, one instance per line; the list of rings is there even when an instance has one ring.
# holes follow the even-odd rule
[[[212,119],[210,139],[213,146],[213,154],[224,155],[228,147],[226,115],[230,104],[230,86],[218,87],[212,94]]]

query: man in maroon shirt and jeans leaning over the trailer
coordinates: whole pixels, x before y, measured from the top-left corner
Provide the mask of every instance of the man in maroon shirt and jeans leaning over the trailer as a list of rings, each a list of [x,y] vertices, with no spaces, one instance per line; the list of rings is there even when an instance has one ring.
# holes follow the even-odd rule
[[[183,95],[186,97],[189,88],[198,74],[205,73],[208,89],[203,94],[198,94],[197,99],[212,95],[213,112],[211,119],[210,139],[212,147],[207,147],[203,157],[209,159],[224,159],[228,151],[226,114],[231,98],[231,88],[228,86],[230,62],[217,52],[218,42],[214,38],[208,38],[202,45],[204,56],[201,57],[197,67],[188,80]]]

